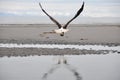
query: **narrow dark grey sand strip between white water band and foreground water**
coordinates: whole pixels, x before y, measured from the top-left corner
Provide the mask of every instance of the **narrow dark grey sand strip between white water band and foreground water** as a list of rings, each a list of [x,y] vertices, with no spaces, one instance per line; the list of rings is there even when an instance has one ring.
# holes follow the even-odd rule
[[[86,54],[109,54],[118,53],[114,50],[78,50],[78,49],[49,49],[49,48],[0,48],[0,57],[12,57],[12,56],[41,56],[41,55],[86,55]]]

